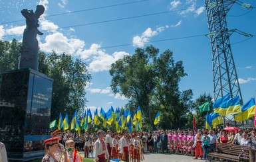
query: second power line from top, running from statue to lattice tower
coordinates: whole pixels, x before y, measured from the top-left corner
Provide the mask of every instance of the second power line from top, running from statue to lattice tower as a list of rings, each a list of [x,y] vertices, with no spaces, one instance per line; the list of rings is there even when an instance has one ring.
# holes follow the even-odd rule
[[[199,7],[193,7],[193,9],[198,9],[198,8]],[[179,10],[173,10],[173,11],[164,11],[164,12],[160,12],[160,13],[150,13],[150,14],[138,15],[138,16],[134,16],[134,17],[124,17],[124,18],[120,18],[120,19],[103,20],[103,21],[98,21],[98,22],[89,22],[89,23],[86,23],[86,24],[76,24],[76,25],[71,25],[71,26],[59,27],[57,29],[42,30],[42,32],[51,31],[51,30],[60,30],[60,29],[63,29],[63,28],[74,28],[74,27],[86,26],[86,25],[90,25],[90,24],[101,24],[101,23],[104,23],[104,22],[114,22],[114,21],[118,21],[118,20],[136,19],[136,18],[140,18],[140,17],[149,17],[149,16],[153,16],[153,15],[162,15],[162,14],[174,13],[174,12],[178,12],[178,11],[186,11],[187,9],[191,9],[191,8],[179,9]],[[12,35],[2,36],[2,37],[17,36],[17,35],[20,35],[20,34],[12,34]]]

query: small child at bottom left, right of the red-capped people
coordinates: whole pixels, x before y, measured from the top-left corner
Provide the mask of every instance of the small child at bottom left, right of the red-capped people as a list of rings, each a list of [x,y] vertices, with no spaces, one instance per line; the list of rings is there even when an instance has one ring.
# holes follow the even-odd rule
[[[80,159],[80,156],[78,155],[77,149],[74,149],[74,141],[73,140],[67,140],[65,142],[65,147],[68,151],[69,161],[74,161],[74,157],[75,157],[75,162],[81,162],[81,159]]]

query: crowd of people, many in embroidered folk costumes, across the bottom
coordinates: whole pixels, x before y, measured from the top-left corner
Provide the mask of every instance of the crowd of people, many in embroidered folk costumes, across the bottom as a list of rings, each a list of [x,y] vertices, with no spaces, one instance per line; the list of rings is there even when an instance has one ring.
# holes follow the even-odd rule
[[[56,130],[52,138],[45,140],[46,161],[80,162],[83,157],[93,157],[94,161],[140,162],[144,153],[170,153],[189,155],[193,159],[208,159],[209,152],[214,152],[217,143],[230,145],[247,145],[255,150],[256,128],[253,130],[156,130],[154,132],[120,133],[107,130],[77,134],[70,131]],[[0,143],[3,147],[3,143]],[[83,152],[82,157],[79,152]],[[1,153],[3,155],[3,153]],[[6,153],[1,158],[7,159]]]

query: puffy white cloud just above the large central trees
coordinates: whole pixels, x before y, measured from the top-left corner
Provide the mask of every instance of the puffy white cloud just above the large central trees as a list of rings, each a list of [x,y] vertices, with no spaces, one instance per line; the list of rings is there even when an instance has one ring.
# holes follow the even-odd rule
[[[157,34],[159,34],[159,32],[164,31],[165,28],[168,28],[169,26],[160,26],[158,28],[156,28],[156,30],[152,30],[151,28],[147,28],[141,36],[134,36],[132,43],[133,46],[138,46],[140,48],[142,48],[144,46],[144,44],[148,43],[150,38],[152,38],[153,36],[156,36]]]

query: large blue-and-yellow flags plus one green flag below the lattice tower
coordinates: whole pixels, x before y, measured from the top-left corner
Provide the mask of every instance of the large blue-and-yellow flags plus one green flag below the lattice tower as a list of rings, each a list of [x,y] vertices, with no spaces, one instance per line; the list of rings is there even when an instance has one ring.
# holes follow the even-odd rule
[[[207,111],[205,116],[205,126],[210,130],[211,126],[216,128],[218,124],[223,124],[222,116],[233,114],[234,119],[240,122],[255,116],[255,99],[251,98],[241,106],[239,96],[231,98],[230,94],[227,93],[227,95],[217,99],[217,101],[213,103],[213,112],[211,114],[209,114],[208,101],[199,106],[199,112],[203,111]]]

